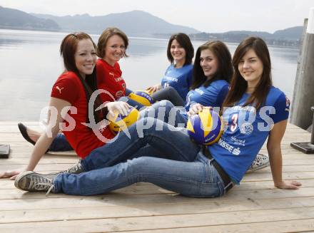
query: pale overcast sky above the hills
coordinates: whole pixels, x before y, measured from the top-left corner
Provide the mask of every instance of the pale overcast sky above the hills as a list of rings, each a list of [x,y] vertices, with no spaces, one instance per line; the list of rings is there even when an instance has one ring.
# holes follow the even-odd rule
[[[0,0],[0,6],[56,16],[103,16],[142,10],[205,32],[268,31],[302,26],[314,0]]]

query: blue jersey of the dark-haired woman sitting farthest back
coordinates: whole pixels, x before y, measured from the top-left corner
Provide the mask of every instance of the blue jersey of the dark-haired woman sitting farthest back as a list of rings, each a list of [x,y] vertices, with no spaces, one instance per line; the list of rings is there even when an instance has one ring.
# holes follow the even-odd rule
[[[192,65],[186,65],[182,68],[175,68],[173,65],[166,70],[165,76],[161,80],[161,87],[166,88],[172,86],[176,89],[183,100],[186,99],[186,94],[192,83]]]

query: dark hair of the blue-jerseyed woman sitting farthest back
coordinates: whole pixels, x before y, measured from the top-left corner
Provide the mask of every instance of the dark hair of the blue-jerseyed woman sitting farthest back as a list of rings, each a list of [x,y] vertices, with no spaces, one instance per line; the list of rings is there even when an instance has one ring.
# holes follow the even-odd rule
[[[167,47],[167,57],[171,64],[173,64],[173,56],[171,55],[171,43],[173,40],[178,41],[178,43],[184,48],[186,51],[186,62],[183,64],[183,66],[190,65],[192,63],[192,59],[194,56],[194,48],[191,43],[190,38],[185,33],[176,33],[171,35],[168,41],[168,47]]]

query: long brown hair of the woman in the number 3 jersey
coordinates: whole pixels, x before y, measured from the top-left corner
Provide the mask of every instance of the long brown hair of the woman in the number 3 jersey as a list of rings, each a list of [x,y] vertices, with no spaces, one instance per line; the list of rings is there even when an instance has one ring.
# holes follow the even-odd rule
[[[262,61],[263,73],[258,83],[258,88],[255,88],[253,93],[250,95],[250,98],[246,100],[243,106],[252,104],[255,108],[260,108],[265,101],[270,86],[273,85],[271,80],[270,55],[265,41],[259,37],[253,36],[245,38],[244,41],[239,44],[238,48],[236,48],[233,55],[232,63],[235,73],[233,74],[230,90],[223,103],[224,107],[231,107],[237,103],[245,93],[245,90],[248,88],[247,81],[245,81],[245,79],[240,75],[238,64],[245,53],[247,53],[250,49],[253,49],[258,58]]]

